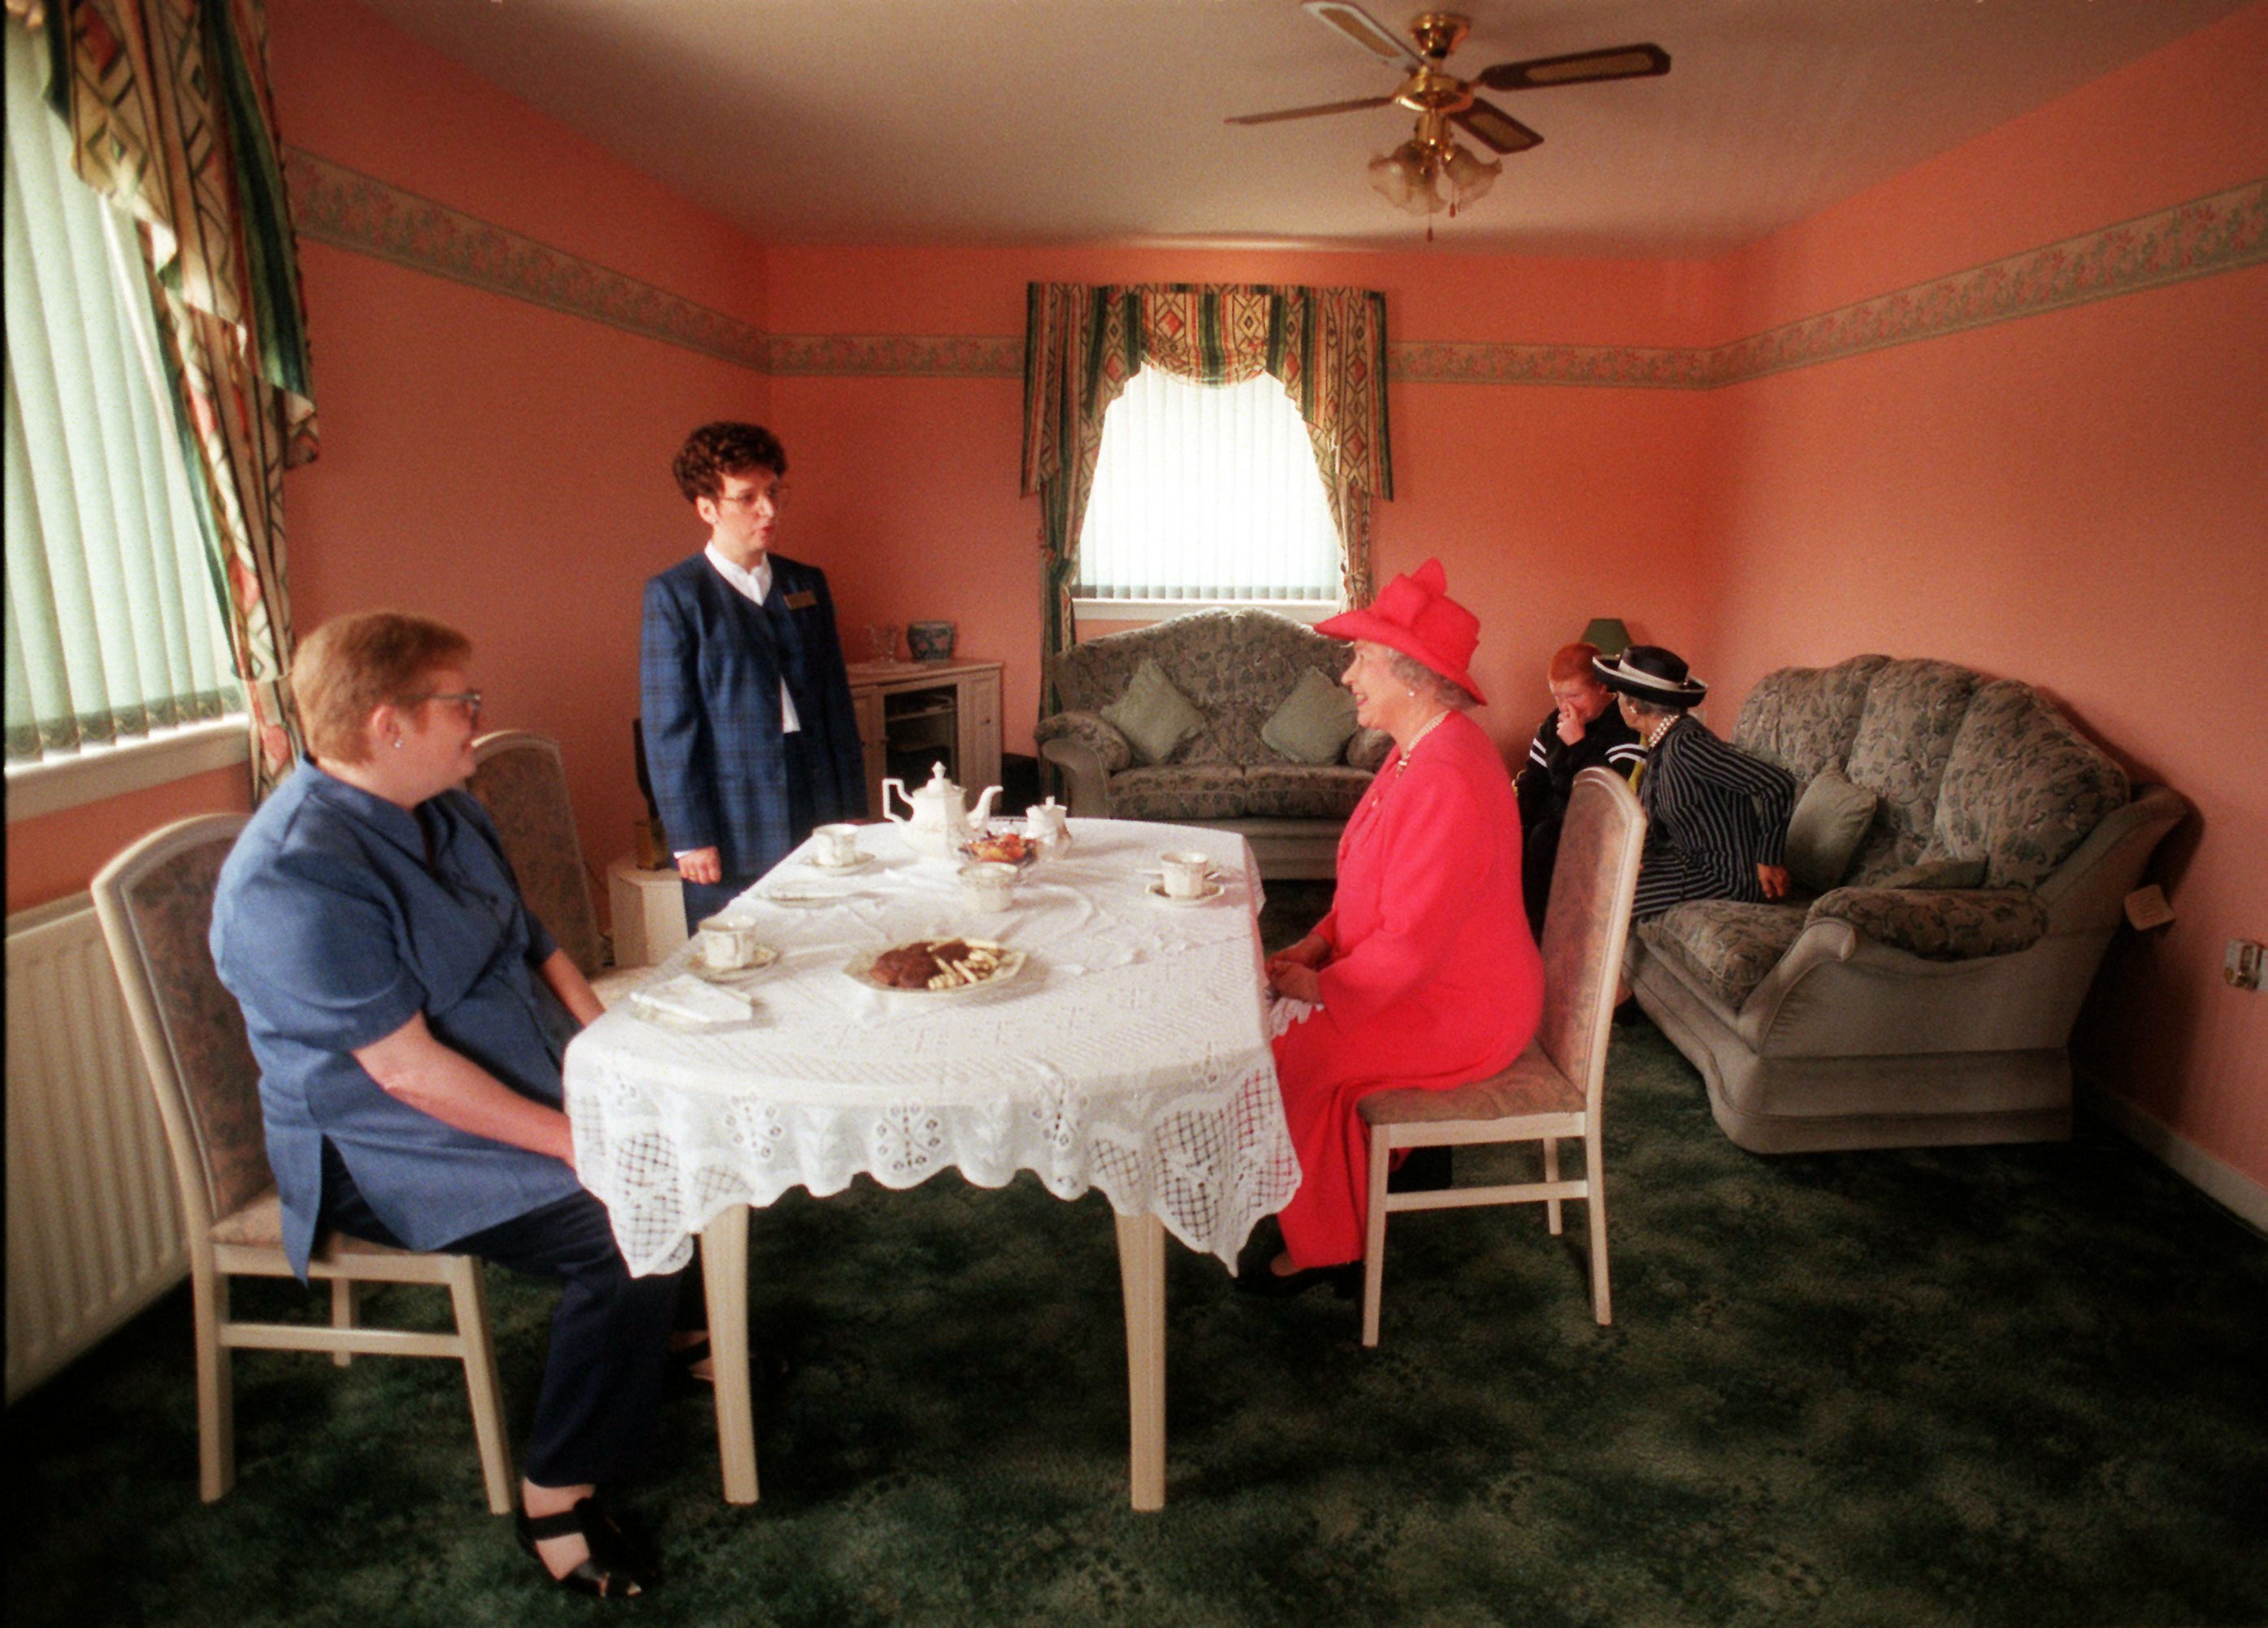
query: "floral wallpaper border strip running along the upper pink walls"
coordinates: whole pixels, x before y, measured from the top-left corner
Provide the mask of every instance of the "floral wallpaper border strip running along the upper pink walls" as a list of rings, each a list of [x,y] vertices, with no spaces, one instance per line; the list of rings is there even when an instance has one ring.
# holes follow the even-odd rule
[[[510,299],[773,376],[1021,379],[1018,336],[767,333],[653,283],[349,170],[286,152],[295,224]],[[1717,390],[2268,263],[2268,179],[2121,220],[1715,347],[1395,340],[1386,376],[1427,385]]]

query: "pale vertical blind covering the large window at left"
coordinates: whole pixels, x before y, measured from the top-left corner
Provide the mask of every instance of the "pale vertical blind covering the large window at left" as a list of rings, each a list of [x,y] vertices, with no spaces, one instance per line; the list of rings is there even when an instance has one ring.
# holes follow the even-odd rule
[[[243,712],[132,224],[7,23],[7,762]]]

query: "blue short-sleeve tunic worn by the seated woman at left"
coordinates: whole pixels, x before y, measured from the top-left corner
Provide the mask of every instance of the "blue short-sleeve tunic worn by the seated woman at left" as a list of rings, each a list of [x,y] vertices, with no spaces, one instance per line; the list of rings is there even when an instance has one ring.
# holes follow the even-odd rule
[[[422,1011],[442,1045],[522,1095],[562,1102],[574,1023],[538,975],[551,934],[472,796],[404,809],[302,762],[222,866],[211,943],[261,1066],[284,1249],[302,1277],[324,1141],[413,1249],[578,1190],[562,1161],[442,1125],[354,1061]]]

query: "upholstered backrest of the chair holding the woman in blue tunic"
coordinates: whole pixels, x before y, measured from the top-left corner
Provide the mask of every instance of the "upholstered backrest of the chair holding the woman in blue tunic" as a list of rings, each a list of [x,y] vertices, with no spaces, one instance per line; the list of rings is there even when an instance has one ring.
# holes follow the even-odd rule
[[[213,889],[243,828],[243,814],[175,821],[111,859],[93,882],[193,1236],[274,1186],[261,1068],[211,948]]]

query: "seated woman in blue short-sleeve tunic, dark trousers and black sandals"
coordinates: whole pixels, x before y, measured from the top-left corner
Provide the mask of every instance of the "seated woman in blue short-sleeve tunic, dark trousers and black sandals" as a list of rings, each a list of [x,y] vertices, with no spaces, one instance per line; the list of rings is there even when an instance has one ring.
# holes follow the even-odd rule
[[[463,789],[469,655],[454,628],[383,610],[299,646],[308,757],[220,873],[213,961],[261,1063],[302,1277],[338,1229],[562,1281],[517,1535],[560,1585],[621,1599],[653,1555],[596,1494],[653,1447],[680,1279],[631,1277],[576,1181],[560,1054],[599,998]]]

